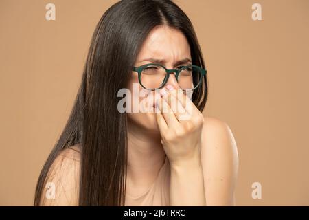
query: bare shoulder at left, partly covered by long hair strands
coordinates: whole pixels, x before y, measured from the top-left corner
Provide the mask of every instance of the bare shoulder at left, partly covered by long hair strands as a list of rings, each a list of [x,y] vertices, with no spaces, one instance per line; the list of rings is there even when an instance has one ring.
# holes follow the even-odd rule
[[[80,179],[80,146],[62,150],[49,168],[42,206],[78,206]]]

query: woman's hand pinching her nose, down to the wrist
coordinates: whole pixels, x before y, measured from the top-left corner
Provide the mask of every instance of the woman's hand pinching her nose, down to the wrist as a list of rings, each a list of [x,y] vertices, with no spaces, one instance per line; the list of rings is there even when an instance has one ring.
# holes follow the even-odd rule
[[[204,117],[181,89],[171,85],[160,91],[157,123],[161,143],[171,166],[201,161],[201,131]]]

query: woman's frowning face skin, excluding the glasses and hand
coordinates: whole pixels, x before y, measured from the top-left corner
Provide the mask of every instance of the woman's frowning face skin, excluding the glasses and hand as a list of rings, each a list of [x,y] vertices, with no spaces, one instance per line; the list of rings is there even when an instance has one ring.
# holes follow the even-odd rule
[[[164,65],[167,69],[179,69],[179,67],[183,65],[192,64],[190,45],[187,43],[187,39],[183,33],[179,30],[168,28],[166,26],[158,26],[154,28],[150,34],[148,34],[139,54],[137,55],[134,66],[139,67],[147,63],[157,63],[150,60],[150,58],[155,60],[163,60],[164,63],[162,63],[162,65]],[[188,61],[176,65],[178,61],[185,60],[185,58],[187,58]],[[167,85],[172,85],[175,89],[179,88],[179,84],[177,83],[174,74],[175,73],[170,74],[170,78],[165,84],[165,87]],[[147,78],[145,79],[147,80]],[[150,79],[150,81],[151,80],[152,79]],[[133,88],[135,89],[133,90]],[[129,122],[137,124],[141,127],[141,129],[147,129],[147,131],[155,133],[159,132],[155,115],[156,113],[155,110],[152,109],[152,104],[155,103],[155,100],[159,96],[158,92],[155,93],[155,91],[148,91],[144,89],[144,91],[147,91],[151,96],[151,98],[148,96],[147,99],[147,95],[141,92],[143,87],[139,85],[137,72],[132,72],[131,78],[128,82],[128,89],[131,94],[131,111],[128,113]],[[133,112],[133,105],[137,106],[138,112]],[[146,110],[148,112],[141,112],[141,108],[139,106],[145,107],[145,109],[149,107]],[[152,109],[152,112],[149,111],[149,109]]]

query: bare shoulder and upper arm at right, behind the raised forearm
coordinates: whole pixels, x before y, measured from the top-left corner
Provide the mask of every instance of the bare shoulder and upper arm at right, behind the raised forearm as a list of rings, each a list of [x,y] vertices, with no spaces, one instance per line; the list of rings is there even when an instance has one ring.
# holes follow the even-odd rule
[[[226,122],[218,118],[204,118],[201,162],[207,206],[235,205],[238,149]]]

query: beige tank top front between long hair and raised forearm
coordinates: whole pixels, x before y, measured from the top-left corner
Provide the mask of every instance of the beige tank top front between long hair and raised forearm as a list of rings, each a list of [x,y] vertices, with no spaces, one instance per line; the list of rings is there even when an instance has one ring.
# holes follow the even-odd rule
[[[137,197],[126,192],[125,206],[170,206],[170,162],[165,157],[157,179]]]

